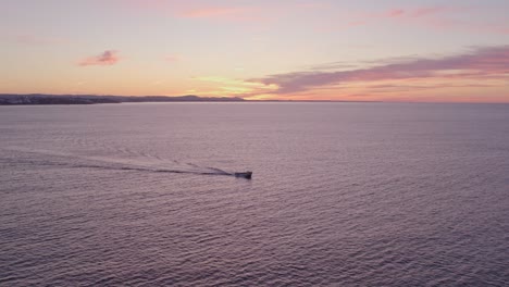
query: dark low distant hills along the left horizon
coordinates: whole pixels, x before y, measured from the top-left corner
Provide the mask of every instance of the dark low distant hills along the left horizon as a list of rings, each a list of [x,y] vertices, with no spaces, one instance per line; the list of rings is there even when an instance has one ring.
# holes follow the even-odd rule
[[[165,96],[97,96],[97,95],[44,95],[44,93],[0,93],[0,105],[12,104],[95,104],[121,102],[241,102],[243,98],[213,98],[195,95],[165,97]]]

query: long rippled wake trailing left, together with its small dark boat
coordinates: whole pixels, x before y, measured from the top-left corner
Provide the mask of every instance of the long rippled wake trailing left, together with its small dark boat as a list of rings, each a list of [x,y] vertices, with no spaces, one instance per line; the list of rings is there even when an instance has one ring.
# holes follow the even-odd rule
[[[2,148],[3,150],[16,151],[26,153],[22,159],[16,157],[12,163],[28,164],[28,165],[46,165],[46,166],[62,166],[70,169],[101,169],[112,171],[137,171],[137,172],[152,172],[152,173],[173,173],[173,174],[195,174],[195,175],[223,175],[235,176],[250,179],[251,174],[227,172],[218,167],[200,166],[194,163],[179,163],[178,161],[160,161],[160,162],[141,162],[139,160],[123,160],[112,159],[104,157],[86,157],[73,153],[25,149],[25,148]],[[32,155],[28,155],[32,154]],[[34,157],[36,155],[36,157]],[[47,157],[40,157],[47,155]],[[49,158],[49,159],[48,159]],[[4,159],[5,160],[5,159]],[[175,167],[167,167],[167,165],[175,165]],[[166,165],[166,166],[162,166]],[[249,174],[249,176],[245,176]]]

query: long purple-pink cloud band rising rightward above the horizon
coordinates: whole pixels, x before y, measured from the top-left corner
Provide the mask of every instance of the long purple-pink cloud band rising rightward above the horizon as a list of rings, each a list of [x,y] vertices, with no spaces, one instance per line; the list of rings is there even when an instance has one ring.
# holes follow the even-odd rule
[[[334,63],[333,63],[334,64]],[[349,71],[300,71],[249,79],[277,86],[274,93],[301,92],[353,82],[422,78],[508,78],[509,46],[475,48],[469,53],[438,59],[412,58]]]

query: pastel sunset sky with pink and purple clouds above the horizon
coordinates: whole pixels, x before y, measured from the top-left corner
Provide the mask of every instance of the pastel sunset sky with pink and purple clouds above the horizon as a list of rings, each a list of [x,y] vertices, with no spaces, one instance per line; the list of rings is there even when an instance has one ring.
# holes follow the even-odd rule
[[[507,0],[0,0],[0,93],[509,102]]]

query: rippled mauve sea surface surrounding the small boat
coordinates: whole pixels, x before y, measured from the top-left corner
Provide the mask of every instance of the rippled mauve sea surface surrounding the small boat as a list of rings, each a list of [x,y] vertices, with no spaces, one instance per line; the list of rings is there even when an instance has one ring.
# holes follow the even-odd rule
[[[0,107],[0,285],[508,286],[509,105]]]

